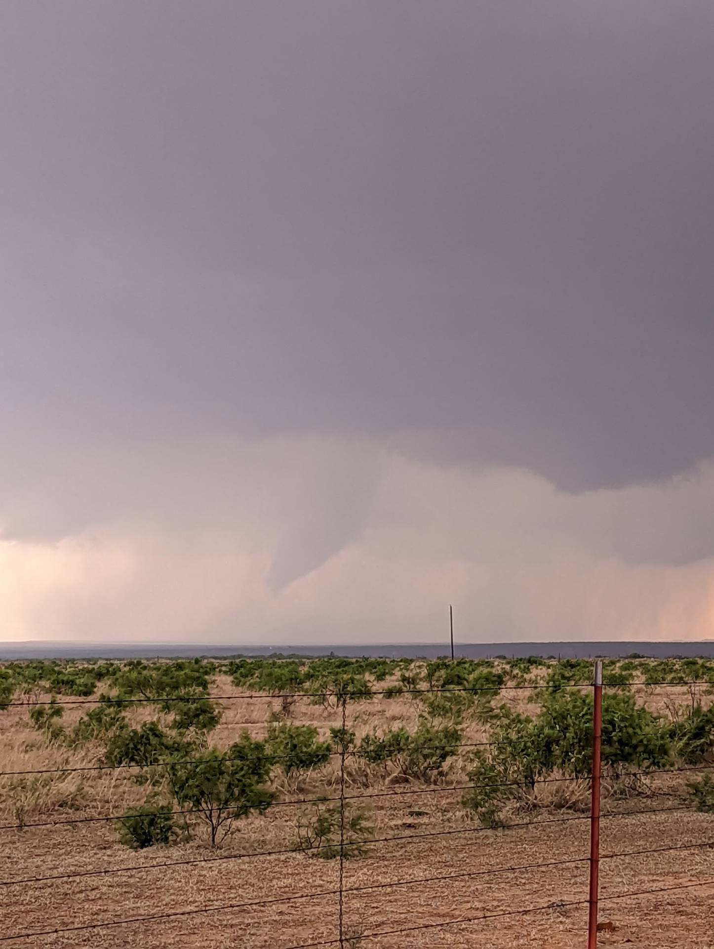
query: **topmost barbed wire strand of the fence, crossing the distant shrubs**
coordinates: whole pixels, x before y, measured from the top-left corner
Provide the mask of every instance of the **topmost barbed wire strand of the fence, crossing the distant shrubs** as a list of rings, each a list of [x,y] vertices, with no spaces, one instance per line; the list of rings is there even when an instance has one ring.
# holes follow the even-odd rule
[[[606,688],[615,688],[615,689],[626,689],[626,688],[635,688],[635,687],[647,687],[650,688],[655,685],[667,685],[667,686],[678,686],[678,687],[687,687],[689,685],[714,685],[714,678],[712,679],[702,679],[702,680],[685,680],[681,682],[675,681],[658,681],[658,682],[617,682],[617,681],[608,681],[605,679],[603,681],[603,687]],[[275,692],[275,693],[266,693],[266,692],[247,692],[241,693],[238,695],[231,694],[220,695],[220,696],[156,696],[156,697],[141,697],[141,698],[47,698],[47,699],[28,699],[26,701],[10,701],[10,702],[0,702],[0,708],[27,708],[35,705],[137,705],[145,703],[167,703],[167,702],[202,702],[202,701],[236,701],[238,699],[276,699],[276,698],[320,698],[321,700],[331,699],[338,703],[341,701],[341,698],[347,698],[348,701],[358,701],[359,699],[369,699],[373,696],[421,696],[421,695],[430,695],[432,693],[443,693],[443,692],[465,692],[470,695],[478,695],[480,693],[490,693],[492,695],[498,695],[501,692],[518,692],[518,691],[532,691],[534,689],[546,689],[550,692],[558,692],[560,689],[585,689],[592,688],[592,681],[589,682],[530,682],[522,685],[444,685],[444,686],[433,686],[429,688],[415,688],[407,689],[402,686],[396,685],[387,689],[367,689],[362,692],[359,691],[349,691],[349,692],[340,692],[338,691],[328,691],[328,692]],[[338,707],[336,706],[336,708]]]

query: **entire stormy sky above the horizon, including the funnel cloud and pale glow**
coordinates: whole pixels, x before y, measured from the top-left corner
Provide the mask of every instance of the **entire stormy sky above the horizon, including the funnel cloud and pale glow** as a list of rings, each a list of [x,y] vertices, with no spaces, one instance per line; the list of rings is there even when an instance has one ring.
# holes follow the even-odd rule
[[[714,637],[711,0],[3,0],[0,640]]]

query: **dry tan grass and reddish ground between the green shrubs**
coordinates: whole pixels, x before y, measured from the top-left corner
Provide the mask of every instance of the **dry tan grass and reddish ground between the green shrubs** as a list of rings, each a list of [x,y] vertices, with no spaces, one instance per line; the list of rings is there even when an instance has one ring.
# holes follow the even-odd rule
[[[149,679],[160,665],[146,664]],[[446,665],[442,663],[438,675],[431,677],[431,684],[445,691],[449,686],[439,683],[445,681]],[[687,781],[692,775],[672,770],[696,767],[693,778],[701,780],[708,773],[706,767],[714,763],[714,727],[708,712],[712,690],[684,683],[647,685],[642,671],[647,663],[630,665],[636,666],[626,676],[632,683],[621,686],[619,694],[632,695],[635,707],[644,706],[652,713],[656,728],[668,736],[668,762],[664,767],[650,763],[646,770],[659,773],[644,776],[632,776],[643,769],[629,763],[605,782],[604,812],[627,815],[602,821],[601,853],[620,856],[603,860],[600,867],[599,918],[606,928],[599,944],[710,949],[714,946],[714,814],[706,807],[695,807],[697,800]],[[341,663],[340,675],[345,675],[344,667]],[[481,674],[485,667],[484,662],[470,663],[465,675]],[[18,682],[23,679],[22,671],[18,672],[22,668],[23,663],[5,667],[7,675]],[[82,669],[82,663],[63,668]],[[95,683],[89,698],[102,693],[128,695],[118,668]],[[344,861],[343,945],[384,949],[584,946],[590,835],[587,775],[560,761],[558,767],[540,772],[550,780],[504,793],[498,801],[497,822],[518,827],[491,827],[483,812],[467,809],[462,800],[463,786],[474,782],[472,755],[478,754],[479,743],[497,734],[503,716],[517,713],[523,721],[538,718],[540,693],[524,685],[539,685],[549,676],[552,682],[562,682],[558,663],[524,669],[493,663],[491,671],[502,681],[487,693],[486,704],[427,708],[423,696],[400,694],[398,687],[394,695],[383,694],[400,682],[403,687],[405,670],[418,682],[415,687],[428,688],[426,668],[423,662],[394,664],[384,679],[377,680],[367,673],[371,687],[380,694],[345,703],[345,724],[355,735],[344,760],[344,795],[363,811],[367,839],[380,840],[366,844],[362,855]],[[47,707],[31,703],[47,701],[51,695],[69,702],[77,695],[70,691],[71,684],[53,684],[43,673],[31,684],[25,681],[14,688],[13,682],[11,699],[7,688],[6,698],[0,695],[0,700],[13,703],[0,710],[0,771],[4,775],[0,777],[1,944],[38,949],[339,945],[335,892],[339,860],[316,859],[314,854],[292,848],[300,836],[299,824],[313,811],[310,805],[285,803],[339,797],[340,746],[330,733],[342,725],[339,693],[337,699],[333,694],[324,703],[304,696],[288,700],[251,687],[253,672],[245,665],[238,674],[231,674],[228,662],[211,663],[207,670],[205,694],[220,720],[200,735],[200,730],[194,730],[195,747],[200,745],[204,753],[211,747],[228,750],[244,732],[254,740],[264,740],[271,728],[281,724],[314,726],[316,740],[332,741],[331,755],[319,766],[286,774],[276,763],[266,784],[275,795],[274,803],[265,813],[253,811],[234,821],[220,847],[211,847],[205,822],[195,813],[186,818],[192,829],[189,840],[140,849],[122,846],[120,823],[103,818],[141,804],[148,792],[156,795],[156,801],[164,800],[161,795],[166,791],[160,781],[141,783],[141,775],[151,769],[98,770],[106,760],[108,736],[98,729],[97,734],[84,734],[82,740],[71,739],[91,705],[63,705],[64,715],[54,722],[60,732],[51,731],[51,722],[31,720],[33,708]],[[675,664],[664,672],[686,678],[681,670],[676,672]],[[708,667],[695,672],[698,678],[710,680]],[[465,681],[473,684],[473,679]],[[407,678],[407,683],[412,687],[412,679]],[[508,688],[515,684],[519,688]],[[285,686],[275,691],[302,690],[315,691],[304,684],[293,686],[292,692]],[[542,690],[542,694],[547,692]],[[458,689],[456,694],[468,695]],[[588,689],[578,694],[587,695]],[[165,734],[173,734],[167,709],[170,706],[162,709],[153,701],[129,704],[121,708],[121,728],[138,730],[143,724],[158,722]],[[697,740],[704,736],[696,755],[687,746],[683,758],[684,726],[678,730],[677,722],[687,722],[692,716],[698,716]],[[372,760],[359,754],[360,747],[367,747],[360,746],[365,736],[383,738],[399,729],[414,735],[427,719],[431,727],[443,728],[446,723],[458,729],[458,744],[467,747],[449,749],[438,767],[420,775],[405,767],[409,762],[404,753],[385,753],[381,760],[375,760],[374,754]],[[567,743],[568,735],[554,740]],[[426,754],[429,751],[427,745]],[[95,770],[77,770],[83,768]],[[357,800],[358,795],[366,796]],[[250,856],[259,851],[279,852]],[[553,865],[559,862],[567,863]],[[70,874],[74,876],[66,878]],[[45,879],[37,880],[40,877]],[[608,899],[626,893],[636,895]],[[533,907],[543,908],[531,912]],[[112,924],[127,920],[134,921]],[[95,928],[96,923],[109,924]],[[65,931],[47,932],[56,929]],[[43,932],[46,935],[37,935]],[[27,935],[20,938],[23,934]]]

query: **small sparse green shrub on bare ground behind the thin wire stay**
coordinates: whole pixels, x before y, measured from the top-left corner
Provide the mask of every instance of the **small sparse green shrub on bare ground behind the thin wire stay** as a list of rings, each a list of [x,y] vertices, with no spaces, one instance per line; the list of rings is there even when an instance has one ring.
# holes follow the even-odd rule
[[[349,801],[345,802],[343,807],[344,816],[340,820],[339,804],[329,805],[316,801],[298,818],[297,839],[293,847],[308,857],[321,860],[334,860],[339,857],[340,850],[344,860],[364,856],[367,852],[365,842],[373,835],[373,828],[367,824],[364,810]]]

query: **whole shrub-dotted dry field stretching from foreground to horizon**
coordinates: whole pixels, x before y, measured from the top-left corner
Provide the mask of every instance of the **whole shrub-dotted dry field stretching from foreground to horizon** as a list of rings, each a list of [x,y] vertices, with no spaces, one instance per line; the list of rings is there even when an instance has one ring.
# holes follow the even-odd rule
[[[583,946],[590,791],[578,755],[589,745],[588,735],[574,737],[582,722],[573,715],[574,709],[579,715],[577,697],[589,698],[587,686],[574,687],[574,682],[587,680],[587,663],[457,663],[461,679],[449,672],[454,668],[449,663],[387,663],[382,668],[333,664],[313,666],[318,672],[312,679],[305,672],[312,663],[301,666],[296,676],[289,661],[199,663],[199,673],[190,671],[188,676],[175,663],[154,663],[138,671],[129,667],[131,675],[126,665],[107,665],[96,680],[96,666],[54,667],[61,675],[43,667],[35,681],[28,681],[33,678],[27,673],[31,666],[6,667],[6,679],[12,681],[0,698],[13,704],[0,712],[5,772],[0,778],[1,876],[6,884],[26,882],[3,886],[0,941],[18,947],[287,949],[338,940],[339,859],[316,859],[314,852],[293,849],[299,824],[309,820],[315,806],[285,802],[339,799],[344,751],[346,806],[363,813],[366,830],[361,839],[368,842],[361,855],[343,863],[345,946]],[[64,676],[65,669],[74,678]],[[178,674],[167,674],[167,669]],[[278,669],[292,669],[292,678],[265,679]],[[89,670],[83,679],[82,670]],[[714,881],[714,846],[706,846],[714,845],[714,814],[705,793],[692,796],[689,783],[702,781],[714,761],[708,684],[714,680],[714,668],[708,663],[697,668],[669,663],[653,671],[652,663],[632,661],[613,664],[606,680],[608,673],[613,684],[606,698],[608,691],[615,702],[632,695],[632,708],[644,707],[648,717],[636,718],[641,734],[633,735],[634,719],[622,717],[625,706],[613,706],[609,712],[606,704],[604,734],[608,716],[616,713],[617,731],[627,735],[627,748],[636,746],[636,754],[622,748],[616,754],[612,748],[605,752],[603,810],[627,816],[602,821],[601,853],[656,852],[602,861],[600,920],[612,922],[614,928],[601,933],[600,943],[705,949],[714,943],[714,884],[691,884]],[[645,679],[702,684],[648,685]],[[369,691],[379,694],[368,698],[365,682]],[[173,702],[162,705],[159,699],[168,698],[169,685]],[[147,691],[148,698],[143,694]],[[321,698],[311,698],[316,693]],[[48,706],[28,703],[49,701],[52,695],[59,703],[76,696],[89,702],[102,695],[126,699],[127,704],[117,707],[112,721],[94,720],[91,728],[87,713],[111,704],[63,704],[62,716],[46,720],[33,713],[33,721],[32,710]],[[188,727],[177,728],[176,708],[202,708],[207,696],[220,719],[194,718],[193,723],[184,721]],[[576,697],[576,704],[568,704],[570,696]],[[342,698],[346,730],[354,735],[340,739]],[[533,748],[542,737],[542,730],[527,730],[547,709],[548,728],[565,709],[572,734],[565,729],[548,733],[546,744],[539,745],[536,770],[523,772],[523,761],[534,764]],[[139,760],[135,745],[136,760],[127,760],[124,742],[123,767],[69,770],[96,768],[116,754],[114,736],[136,736],[152,722],[161,729],[160,740],[168,741],[153,759]],[[202,724],[206,727],[198,727]],[[312,744],[301,726],[316,729]],[[516,735],[523,728],[529,735],[527,749],[518,745]],[[200,768],[211,748],[224,758],[238,754],[229,749],[242,733],[265,743],[262,748],[273,748],[269,773],[260,783],[274,797],[265,812],[252,809],[230,822],[226,839],[211,847],[203,814],[185,800],[172,798],[166,788],[165,774],[185,772],[179,765],[174,771],[151,765],[177,762],[190,753]],[[289,754],[299,758],[300,767],[287,769],[289,754],[275,754],[280,735],[281,740],[290,735],[306,742],[281,746],[293,749]],[[421,744],[414,744],[415,735],[422,735]],[[512,756],[493,757],[496,752],[485,743],[498,740],[497,748],[503,748],[504,735],[511,742],[505,751]],[[146,748],[140,754],[146,755]],[[482,757],[475,761],[474,754]],[[684,768],[695,772],[682,774]],[[502,777],[503,769],[509,770],[508,781],[479,778],[498,769]],[[156,773],[162,777],[145,783],[147,775]],[[144,783],[137,783],[137,777]],[[474,784],[485,788],[477,788],[485,798],[469,802],[465,786]],[[496,785],[508,787],[499,787],[494,800],[491,789]],[[103,818],[140,805],[147,794],[154,795],[155,808],[170,803],[171,809],[184,812],[175,821],[179,831],[186,823],[191,839],[174,838],[172,846],[136,850],[119,843],[122,825]],[[365,796],[357,800],[358,795]],[[339,800],[333,806],[339,808]],[[347,809],[348,815],[351,812]],[[72,823],[58,826],[63,822]],[[348,834],[345,840],[350,839]],[[262,851],[281,852],[250,856]],[[564,861],[569,863],[547,865]],[[159,866],[164,864],[180,865]],[[67,874],[85,875],[62,879]],[[59,879],[33,882],[47,876]],[[394,883],[402,885],[385,885]],[[641,893],[644,890],[668,891]],[[321,895],[298,899],[311,893]],[[640,895],[608,902],[608,896],[625,893]],[[245,905],[250,902],[260,905]],[[208,907],[231,908],[203,912]],[[517,915],[532,907],[546,908]],[[148,916],[166,918],[71,929]],[[454,924],[435,925],[441,922]],[[69,931],[14,938],[54,929]],[[371,933],[384,935],[367,938]]]

